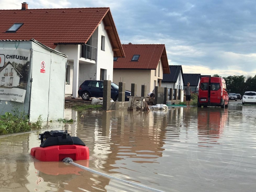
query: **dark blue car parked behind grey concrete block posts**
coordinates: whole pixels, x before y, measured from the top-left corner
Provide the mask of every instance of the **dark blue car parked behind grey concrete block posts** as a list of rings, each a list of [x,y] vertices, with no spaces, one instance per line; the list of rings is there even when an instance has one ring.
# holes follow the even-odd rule
[[[111,98],[114,101],[118,101],[118,89],[118,85],[111,82]],[[103,81],[84,81],[79,87],[78,95],[86,101],[89,100],[91,97],[103,97]],[[129,101],[129,98],[127,98],[126,96],[131,96],[131,92],[125,90],[125,101]]]

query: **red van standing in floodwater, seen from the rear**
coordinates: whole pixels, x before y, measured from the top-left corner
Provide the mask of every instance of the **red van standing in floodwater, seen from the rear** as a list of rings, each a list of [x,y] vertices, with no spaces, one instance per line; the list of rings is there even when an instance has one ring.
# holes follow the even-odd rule
[[[197,106],[229,106],[225,80],[221,77],[202,77],[198,90]]]

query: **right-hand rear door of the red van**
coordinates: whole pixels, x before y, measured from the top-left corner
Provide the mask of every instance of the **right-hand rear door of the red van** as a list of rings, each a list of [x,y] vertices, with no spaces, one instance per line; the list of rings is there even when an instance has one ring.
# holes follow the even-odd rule
[[[210,80],[210,102],[220,103],[221,100],[221,84],[220,78],[213,77]]]

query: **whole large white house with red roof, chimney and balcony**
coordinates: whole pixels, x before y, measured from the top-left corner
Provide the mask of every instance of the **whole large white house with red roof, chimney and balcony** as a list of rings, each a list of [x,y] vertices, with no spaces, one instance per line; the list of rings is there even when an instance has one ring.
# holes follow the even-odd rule
[[[109,7],[29,9],[24,2],[0,15],[1,40],[34,38],[68,55],[66,96],[76,98],[85,80],[112,81],[113,57],[125,57]]]

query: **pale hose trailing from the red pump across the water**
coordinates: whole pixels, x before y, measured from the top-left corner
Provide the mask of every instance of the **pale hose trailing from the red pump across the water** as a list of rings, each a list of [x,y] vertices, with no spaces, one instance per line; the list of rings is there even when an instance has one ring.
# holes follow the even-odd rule
[[[116,178],[116,177],[113,177],[113,176],[110,176],[110,175],[107,175],[107,174],[104,174],[104,173],[101,173],[101,172],[98,172],[98,171],[94,171],[94,170],[92,170],[92,169],[90,169],[90,168],[88,168],[88,167],[85,167],[85,166],[82,166],[82,165],[79,165],[79,164],[73,162],[73,160],[72,160],[71,158],[69,158],[69,157],[66,157],[65,159],[63,159],[63,162],[70,163],[70,164],[72,164],[72,165],[74,165],[74,166],[77,166],[77,167],[79,167],[79,168],[81,168],[81,169],[90,171],[90,172],[92,172],[92,173],[96,173],[96,174],[101,175],[101,176],[104,176],[104,177],[108,177],[108,178],[110,178],[110,179],[115,179],[115,180],[124,182],[124,183],[126,183],[126,184],[128,184],[128,185],[140,187],[140,188],[142,188],[142,189],[147,189],[147,190],[155,191],[155,192],[164,192],[164,191],[161,191],[161,190],[158,190],[158,189],[153,189],[153,188],[150,188],[150,187],[146,187],[146,186],[144,186],[144,185],[140,185],[140,184],[137,184],[137,183],[134,183],[134,182],[130,182],[130,181],[126,181],[126,180],[124,180],[124,179],[119,179],[119,178]]]

